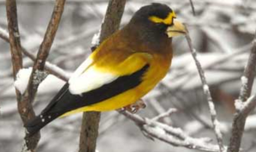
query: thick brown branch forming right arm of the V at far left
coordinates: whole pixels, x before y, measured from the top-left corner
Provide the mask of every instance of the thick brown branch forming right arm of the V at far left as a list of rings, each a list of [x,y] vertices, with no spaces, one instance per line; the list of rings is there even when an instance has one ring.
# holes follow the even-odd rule
[[[33,66],[33,71],[30,76],[30,81],[27,86],[27,90],[25,93],[22,95],[21,102],[18,105],[19,112],[21,114],[22,120],[24,124],[27,124],[27,122],[35,117],[35,112],[32,107],[32,103],[34,101],[35,95],[37,93],[37,88],[41,82],[42,75],[41,71],[44,70],[45,63],[46,63],[46,58],[48,57],[50,48],[52,46],[60,18],[64,9],[64,3],[65,0],[56,0],[56,4],[54,7],[53,15],[51,18],[51,21],[48,25],[44,40],[40,46],[38,56],[36,58],[36,61]],[[11,35],[10,35],[11,37]],[[11,43],[11,41],[10,41]],[[21,47],[21,51],[22,51]],[[43,75],[44,76],[44,75]],[[37,83],[35,83],[35,81]],[[33,137],[29,137],[28,134],[26,134],[25,137],[25,143],[22,149],[22,152],[27,152],[31,151],[34,152],[37,144],[40,140],[40,134],[36,134]]]

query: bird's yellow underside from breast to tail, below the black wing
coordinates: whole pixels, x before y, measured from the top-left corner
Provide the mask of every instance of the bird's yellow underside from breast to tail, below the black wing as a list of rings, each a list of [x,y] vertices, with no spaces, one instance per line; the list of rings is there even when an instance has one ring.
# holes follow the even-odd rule
[[[150,90],[152,90],[156,86],[156,84],[166,75],[170,63],[170,58],[156,56],[155,59],[150,63],[149,69],[144,74],[142,78],[142,83],[137,87],[127,90],[117,96],[114,96],[100,103],[70,111],[68,113],[65,113],[61,117],[84,111],[116,110],[133,104],[141,97],[146,95]]]

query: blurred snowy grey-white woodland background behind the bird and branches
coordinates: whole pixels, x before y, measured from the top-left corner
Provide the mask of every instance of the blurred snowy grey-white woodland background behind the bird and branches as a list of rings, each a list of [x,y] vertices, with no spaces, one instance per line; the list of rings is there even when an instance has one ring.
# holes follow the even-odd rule
[[[17,0],[18,19],[23,47],[36,54],[51,17],[54,0]],[[241,75],[248,59],[251,40],[256,30],[255,0],[193,0],[193,16],[189,0],[128,0],[121,26],[134,12],[151,2],[168,4],[177,18],[186,23],[198,58],[205,70],[212,98],[221,123],[224,144],[228,144],[238,97]],[[92,37],[100,29],[107,0],[67,0],[57,37],[48,61],[61,67],[67,76],[90,54]],[[0,29],[7,29],[5,0],[0,0]],[[209,126],[207,102],[197,69],[184,37],[173,40],[174,58],[170,72],[144,100],[147,108],[139,115],[153,118],[170,108],[177,112],[163,121],[181,128],[192,137],[209,137],[216,143]],[[26,85],[33,62],[24,56],[20,78],[13,81],[10,46],[0,38],[0,152],[17,152],[22,147],[24,128],[17,110],[15,86]],[[36,113],[47,105],[64,81],[49,75],[34,103]],[[254,85],[255,87],[255,85]],[[253,93],[255,89],[253,88]],[[252,94],[253,94],[252,93]],[[78,151],[82,114],[58,119],[41,132],[38,152]],[[256,151],[256,114],[249,116],[242,148]],[[117,112],[102,114],[97,143],[99,152],[197,152],[177,148],[161,141],[145,138],[133,122]]]

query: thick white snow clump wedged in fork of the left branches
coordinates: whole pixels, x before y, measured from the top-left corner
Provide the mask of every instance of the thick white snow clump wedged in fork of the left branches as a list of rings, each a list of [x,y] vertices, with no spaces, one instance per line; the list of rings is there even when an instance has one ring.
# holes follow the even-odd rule
[[[32,67],[29,67],[19,70],[17,74],[17,79],[14,82],[14,86],[17,90],[21,92],[21,94],[23,94],[27,89],[31,72]]]

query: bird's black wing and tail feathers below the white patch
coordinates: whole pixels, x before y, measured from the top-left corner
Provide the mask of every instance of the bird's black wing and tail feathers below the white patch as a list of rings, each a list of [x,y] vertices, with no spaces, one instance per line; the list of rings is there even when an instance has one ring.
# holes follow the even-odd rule
[[[69,111],[99,103],[135,88],[141,83],[141,77],[148,67],[149,65],[147,64],[131,75],[119,77],[111,83],[85,92],[82,95],[71,94],[69,92],[69,84],[66,83],[41,114],[31,120],[25,127],[30,135],[34,135],[48,123]]]

